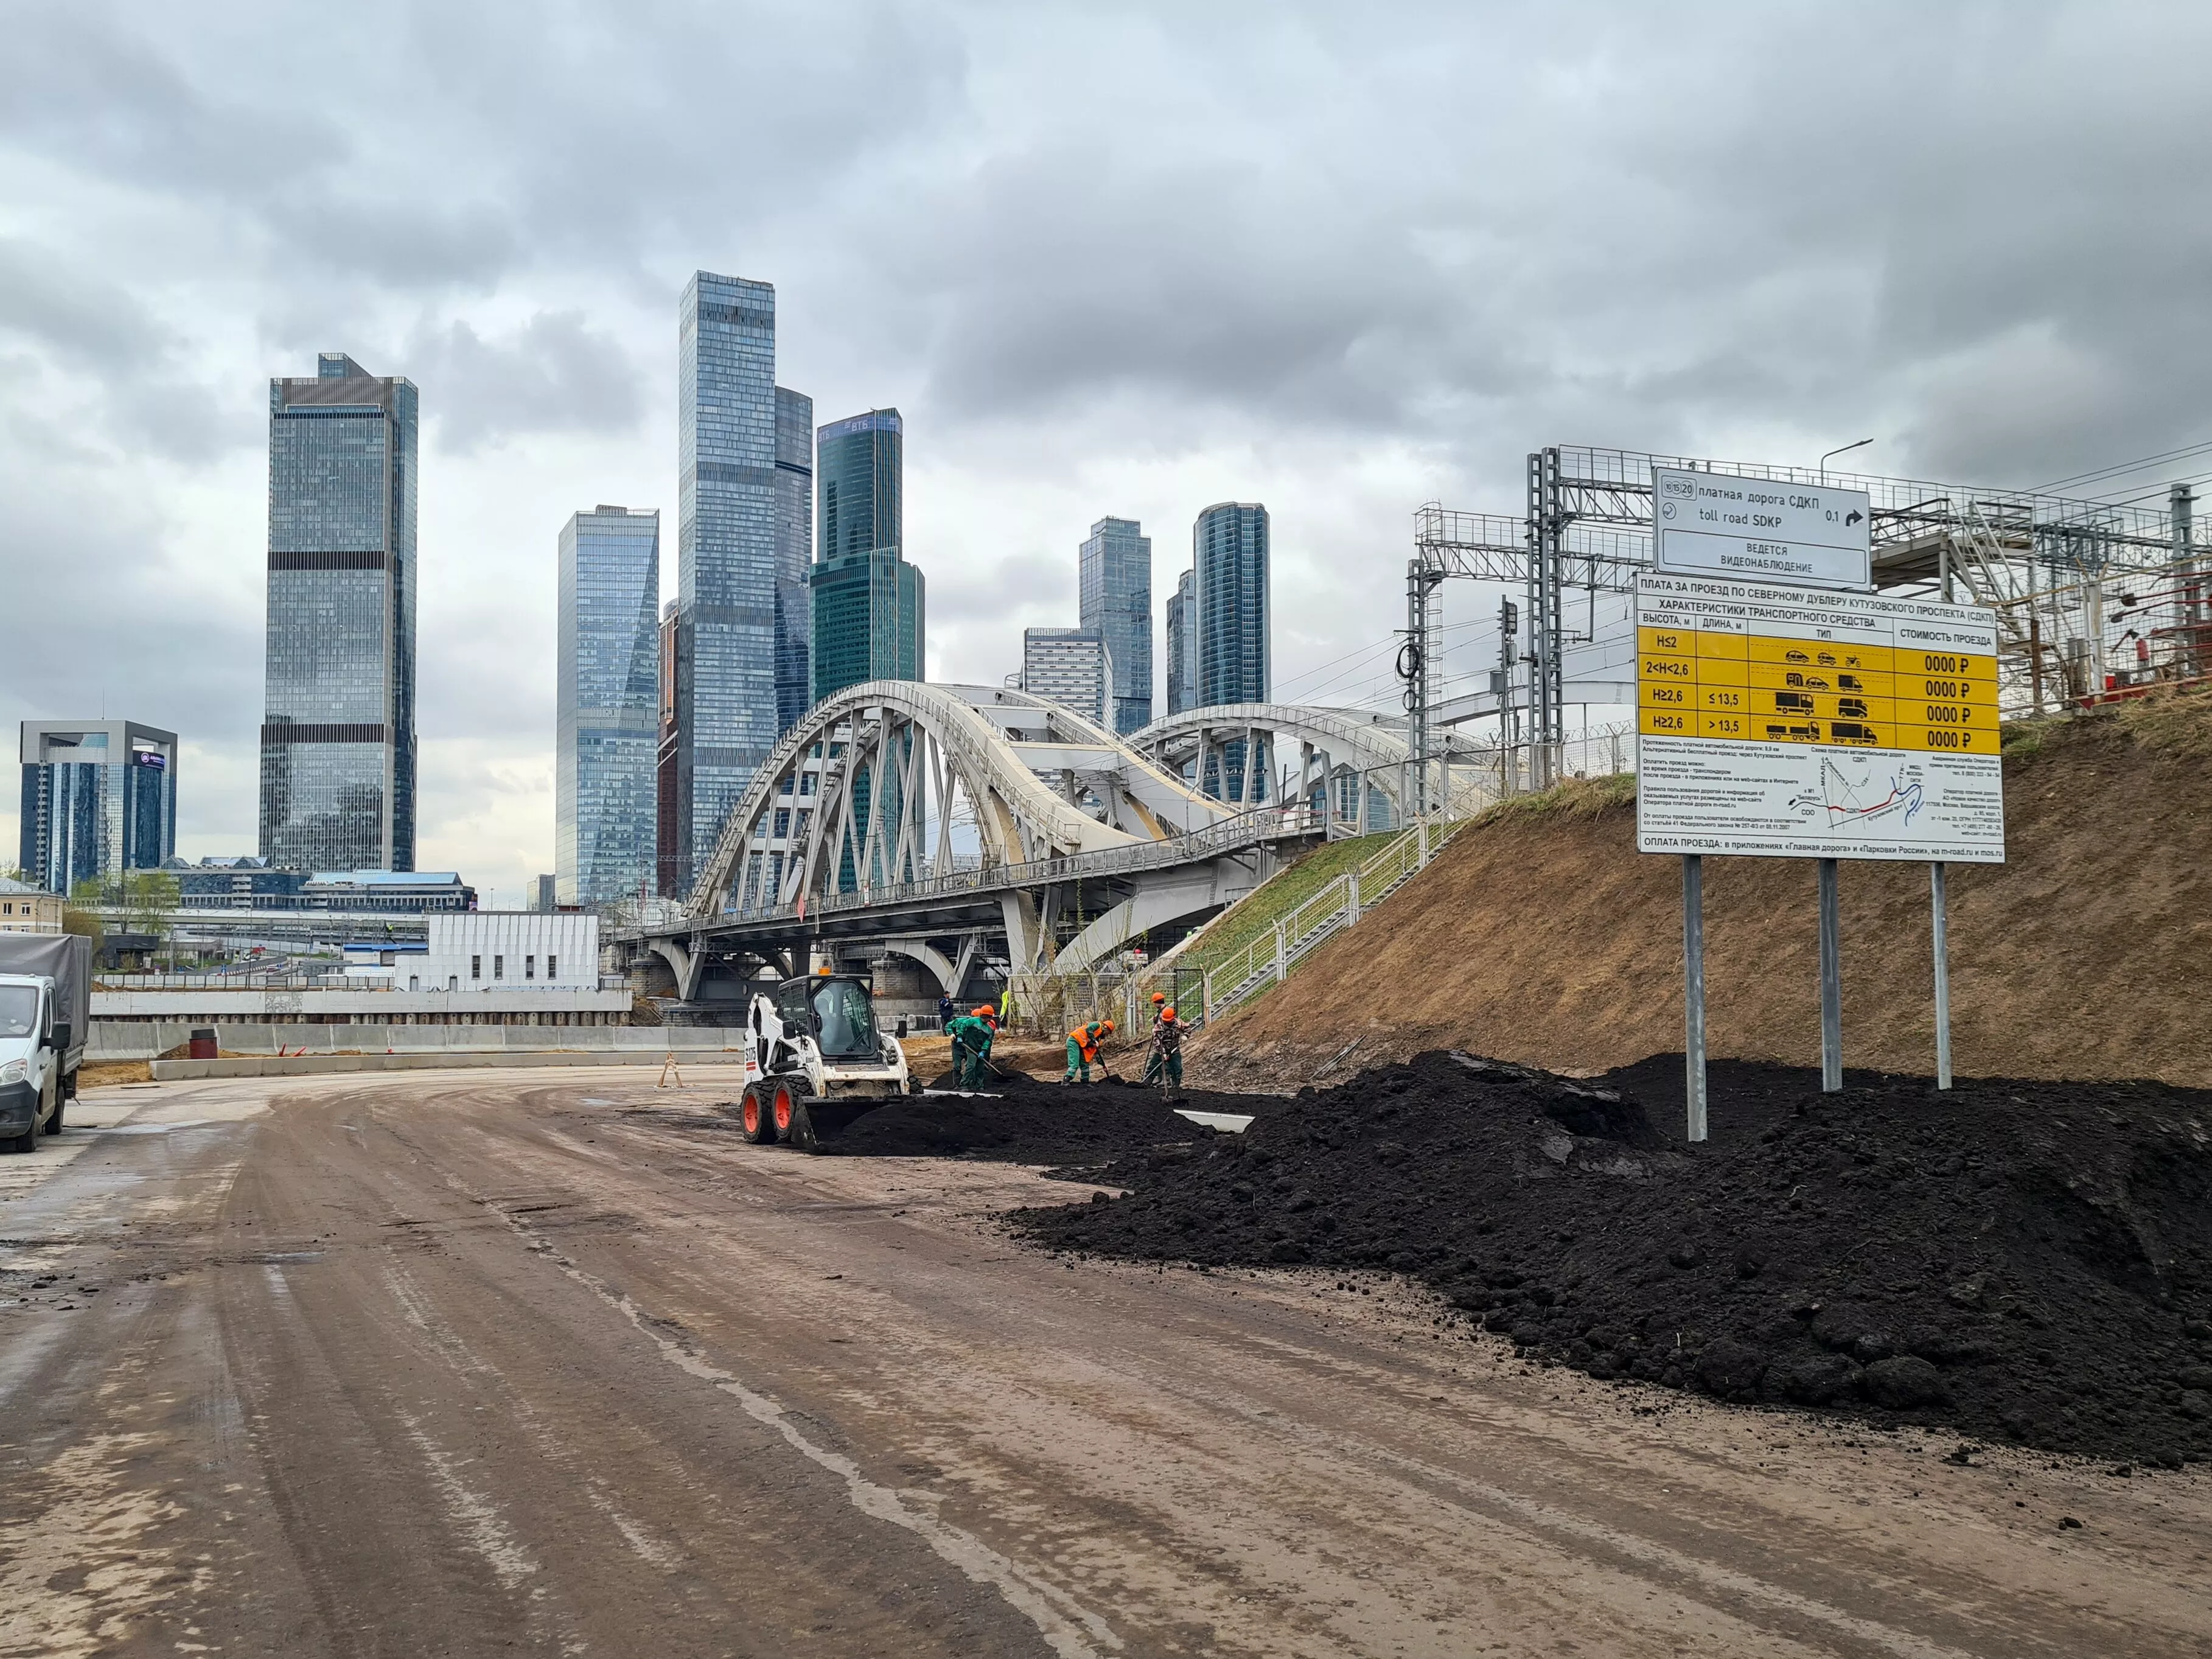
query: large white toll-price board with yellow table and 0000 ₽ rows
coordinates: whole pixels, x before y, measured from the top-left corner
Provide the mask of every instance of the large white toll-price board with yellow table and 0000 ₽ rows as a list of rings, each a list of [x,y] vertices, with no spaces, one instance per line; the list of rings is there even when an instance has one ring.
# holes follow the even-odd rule
[[[1637,849],[2004,863],[1982,606],[1637,577]]]

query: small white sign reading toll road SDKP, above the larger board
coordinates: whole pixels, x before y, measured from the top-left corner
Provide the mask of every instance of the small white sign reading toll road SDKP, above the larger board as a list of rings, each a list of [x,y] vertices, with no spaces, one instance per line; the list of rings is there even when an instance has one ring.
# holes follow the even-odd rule
[[[1867,491],[1652,467],[1652,562],[1725,575],[1871,588]]]

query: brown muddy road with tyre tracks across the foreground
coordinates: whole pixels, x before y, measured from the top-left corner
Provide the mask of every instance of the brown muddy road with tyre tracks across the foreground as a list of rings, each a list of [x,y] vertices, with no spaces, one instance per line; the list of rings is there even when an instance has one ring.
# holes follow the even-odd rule
[[[692,1084],[164,1084],[0,1161],[0,1655],[2212,1648],[2203,1473],[1055,1261],[991,1214],[1082,1188]]]

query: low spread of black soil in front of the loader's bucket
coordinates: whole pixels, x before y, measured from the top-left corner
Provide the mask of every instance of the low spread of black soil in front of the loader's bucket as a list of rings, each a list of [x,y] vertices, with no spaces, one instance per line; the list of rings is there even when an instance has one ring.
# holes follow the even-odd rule
[[[1212,1141],[1214,1133],[1175,1113],[1245,1110],[1243,1097],[1128,1084],[1060,1086],[1031,1077],[991,1095],[922,1095],[867,1113],[838,1135],[841,1157],[982,1157],[1004,1164],[1093,1168],[1159,1146]],[[1281,1110],[1283,1102],[1267,1102]]]

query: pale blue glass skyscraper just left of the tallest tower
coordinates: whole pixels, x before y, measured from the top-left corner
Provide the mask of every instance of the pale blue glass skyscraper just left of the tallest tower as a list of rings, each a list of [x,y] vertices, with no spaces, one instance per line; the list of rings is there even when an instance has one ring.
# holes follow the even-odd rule
[[[560,533],[553,896],[608,905],[655,885],[661,515],[597,507]]]

